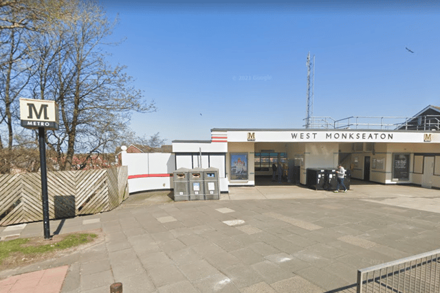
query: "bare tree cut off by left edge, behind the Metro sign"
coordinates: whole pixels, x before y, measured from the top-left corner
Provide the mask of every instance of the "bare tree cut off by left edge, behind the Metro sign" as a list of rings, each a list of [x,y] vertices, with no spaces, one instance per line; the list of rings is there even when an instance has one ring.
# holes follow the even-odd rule
[[[67,8],[71,6],[66,3],[64,0],[0,0],[0,133],[7,133],[5,137],[0,134],[0,173],[39,168],[34,163],[38,159],[35,137],[23,135],[22,128],[16,133],[18,99],[28,92],[33,74],[30,43],[35,36],[45,34],[61,16],[68,15],[71,10]]]

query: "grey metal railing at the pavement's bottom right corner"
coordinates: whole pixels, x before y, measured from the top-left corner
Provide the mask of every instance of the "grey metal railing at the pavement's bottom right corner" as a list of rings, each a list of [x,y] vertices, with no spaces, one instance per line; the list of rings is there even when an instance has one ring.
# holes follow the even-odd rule
[[[439,261],[440,249],[358,270],[357,292],[439,293]]]

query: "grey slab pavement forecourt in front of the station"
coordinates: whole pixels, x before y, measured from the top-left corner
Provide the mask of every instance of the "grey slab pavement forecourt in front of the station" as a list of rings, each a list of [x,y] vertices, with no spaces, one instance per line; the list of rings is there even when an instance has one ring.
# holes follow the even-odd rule
[[[439,248],[434,189],[274,185],[233,187],[218,201],[157,201],[136,194],[107,213],[51,221],[58,233],[102,228],[104,241],[0,279],[69,266],[63,293],[107,293],[115,282],[124,293],[355,292],[358,269]],[[0,228],[0,237],[41,236],[42,226]]]

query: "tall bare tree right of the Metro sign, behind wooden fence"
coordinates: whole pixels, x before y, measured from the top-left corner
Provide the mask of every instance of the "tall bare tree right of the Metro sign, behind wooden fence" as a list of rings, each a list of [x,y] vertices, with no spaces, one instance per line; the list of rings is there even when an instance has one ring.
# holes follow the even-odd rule
[[[128,132],[133,111],[155,110],[131,83],[124,66],[112,67],[102,46],[113,31],[104,11],[94,3],[76,2],[63,25],[43,40],[34,97],[54,99],[60,110],[60,130],[47,134],[61,169],[69,170],[75,152],[105,152]],[[43,48],[43,45],[39,46]]]

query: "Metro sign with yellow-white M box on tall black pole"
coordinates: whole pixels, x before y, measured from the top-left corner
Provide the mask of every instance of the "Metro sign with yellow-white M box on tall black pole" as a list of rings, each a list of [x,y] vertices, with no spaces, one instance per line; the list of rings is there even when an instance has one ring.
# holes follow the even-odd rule
[[[20,119],[21,126],[24,128],[38,128],[39,130],[44,239],[50,239],[45,129],[58,130],[58,106],[54,101],[44,99],[20,99]]]

